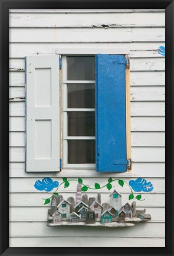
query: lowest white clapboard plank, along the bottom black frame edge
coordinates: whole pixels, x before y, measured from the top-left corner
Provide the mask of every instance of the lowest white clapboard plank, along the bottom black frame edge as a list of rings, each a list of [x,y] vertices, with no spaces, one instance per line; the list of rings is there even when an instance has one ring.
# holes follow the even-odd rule
[[[123,237],[10,237],[9,247],[165,247],[165,237],[127,237],[126,244]]]

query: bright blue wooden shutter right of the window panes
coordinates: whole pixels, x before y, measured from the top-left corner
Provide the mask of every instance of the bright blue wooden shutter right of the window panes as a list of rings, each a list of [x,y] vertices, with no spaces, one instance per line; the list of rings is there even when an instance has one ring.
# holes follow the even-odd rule
[[[96,54],[96,171],[124,172],[126,84],[124,55]]]

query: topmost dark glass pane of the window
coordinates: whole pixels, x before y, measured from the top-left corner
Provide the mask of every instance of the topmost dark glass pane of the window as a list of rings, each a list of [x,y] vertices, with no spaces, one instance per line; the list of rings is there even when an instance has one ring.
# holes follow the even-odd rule
[[[94,57],[67,57],[68,80],[95,80]]]

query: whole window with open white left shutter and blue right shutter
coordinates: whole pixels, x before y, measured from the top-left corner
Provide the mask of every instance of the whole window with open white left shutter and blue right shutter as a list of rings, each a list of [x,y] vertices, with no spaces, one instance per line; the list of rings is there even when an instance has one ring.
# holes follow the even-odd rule
[[[126,65],[125,54],[26,57],[26,171],[130,168]]]

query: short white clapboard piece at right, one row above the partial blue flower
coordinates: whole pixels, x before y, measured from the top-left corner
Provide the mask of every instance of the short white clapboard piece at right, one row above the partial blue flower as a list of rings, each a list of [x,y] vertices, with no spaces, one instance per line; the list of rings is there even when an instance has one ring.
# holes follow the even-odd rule
[[[165,28],[132,28],[132,41],[165,41]]]

